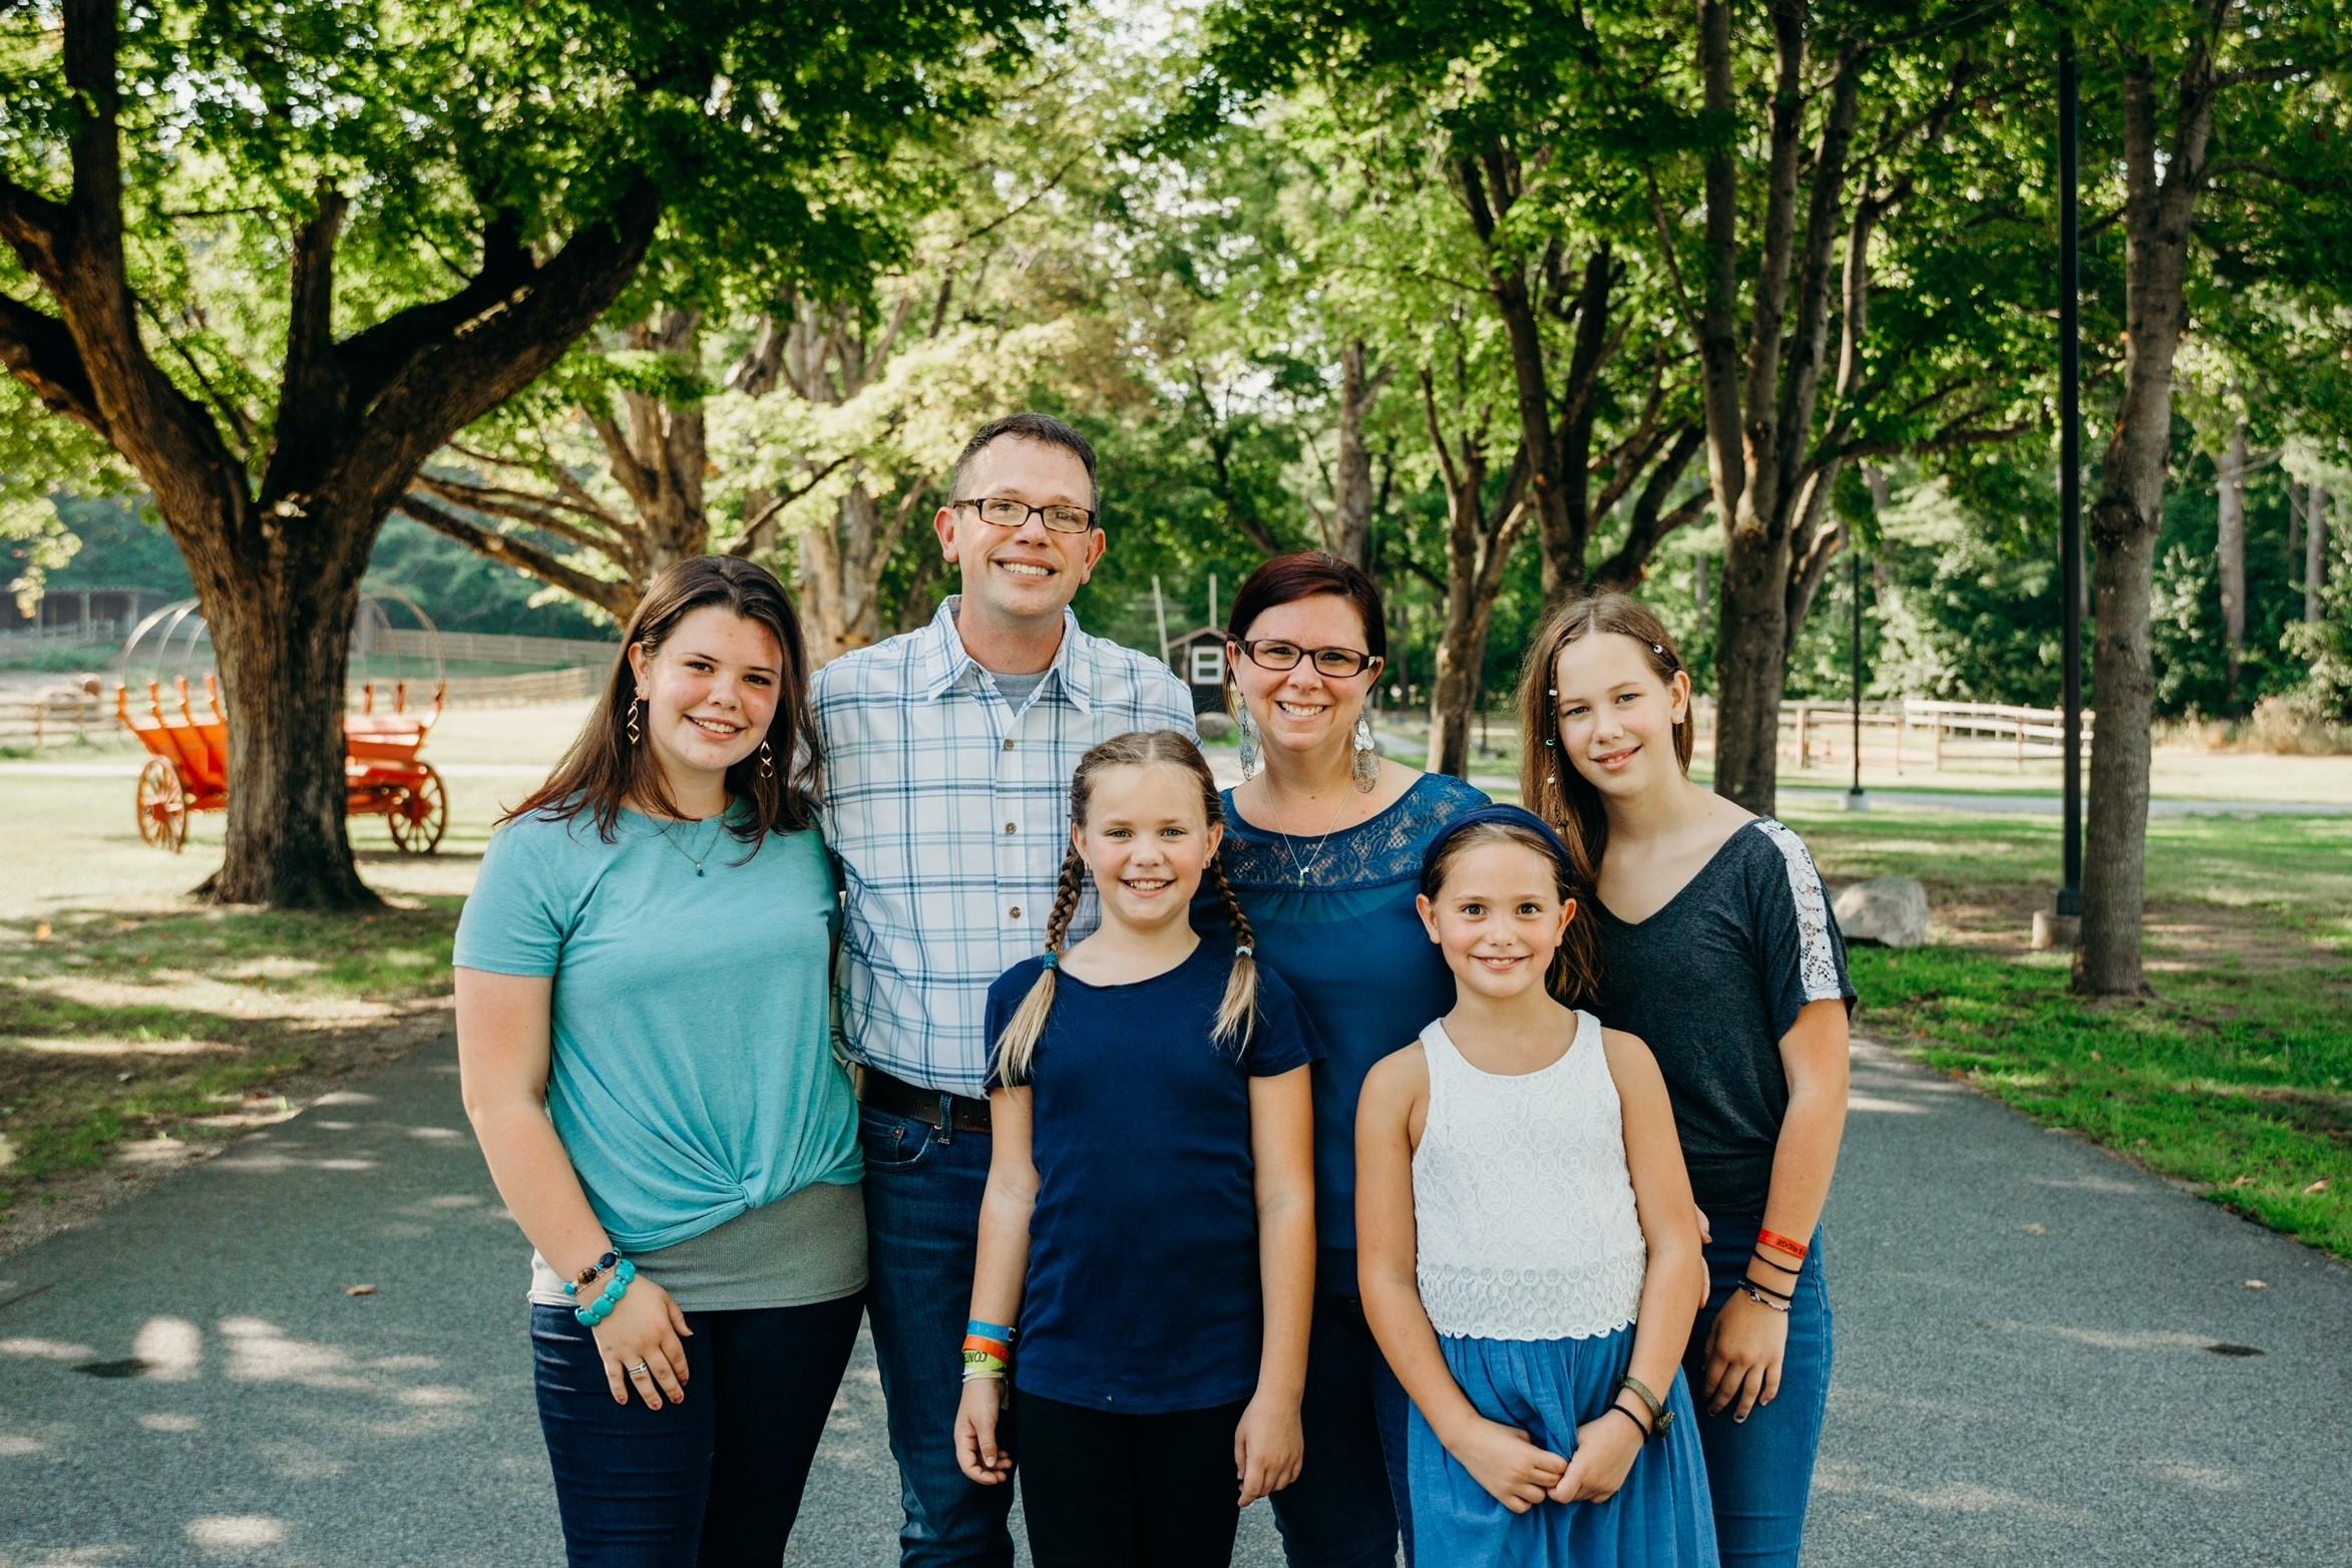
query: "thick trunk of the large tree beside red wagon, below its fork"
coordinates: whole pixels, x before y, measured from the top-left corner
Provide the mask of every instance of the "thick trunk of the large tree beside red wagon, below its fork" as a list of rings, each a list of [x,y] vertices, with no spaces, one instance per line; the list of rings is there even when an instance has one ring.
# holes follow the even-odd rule
[[[176,529],[228,715],[228,853],[195,891],[278,910],[376,907],[343,816],[343,672],[381,520],[278,522],[249,548]]]

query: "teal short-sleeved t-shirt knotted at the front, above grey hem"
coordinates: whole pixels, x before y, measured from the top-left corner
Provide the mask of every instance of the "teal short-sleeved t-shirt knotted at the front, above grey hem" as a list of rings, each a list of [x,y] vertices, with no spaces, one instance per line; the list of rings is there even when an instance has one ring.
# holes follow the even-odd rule
[[[623,1253],[863,1173],[833,1056],[823,835],[748,849],[635,811],[612,844],[586,813],[517,818],[459,917],[461,969],[555,976],[548,1119]]]

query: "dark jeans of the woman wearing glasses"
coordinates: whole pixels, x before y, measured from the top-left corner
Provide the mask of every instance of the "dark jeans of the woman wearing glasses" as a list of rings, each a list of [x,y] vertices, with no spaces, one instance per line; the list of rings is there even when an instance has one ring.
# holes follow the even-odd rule
[[[1305,1467],[1275,1493],[1275,1528],[1291,1568],[1395,1568],[1397,1535],[1414,1561],[1404,1493],[1404,1415],[1411,1401],[1355,1295],[1317,1295],[1308,1392],[1298,1406]]]

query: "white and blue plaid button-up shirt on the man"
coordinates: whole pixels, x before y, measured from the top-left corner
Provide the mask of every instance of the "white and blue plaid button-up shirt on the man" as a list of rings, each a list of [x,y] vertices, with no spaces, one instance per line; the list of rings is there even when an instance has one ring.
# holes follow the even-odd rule
[[[922,1088],[988,1088],[988,985],[1044,950],[1070,846],[1077,759],[1134,729],[1195,733],[1192,693],[1155,658],[1077,630],[1014,712],[955,632],[842,654],[809,696],[826,743],[826,844],[842,860],[842,1041]],[[1096,922],[1087,893],[1073,938]]]

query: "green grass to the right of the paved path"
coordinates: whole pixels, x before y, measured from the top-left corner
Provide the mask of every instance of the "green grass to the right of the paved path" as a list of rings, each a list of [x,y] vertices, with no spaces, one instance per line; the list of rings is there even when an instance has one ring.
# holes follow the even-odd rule
[[[2067,954],[2020,950],[2056,823],[1797,827],[1832,882],[1910,875],[1936,905],[1938,945],[1853,950],[1863,1032],[2352,1260],[2352,820],[2150,823],[2154,999],[2074,997]]]

